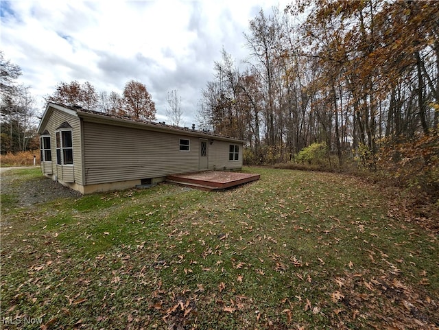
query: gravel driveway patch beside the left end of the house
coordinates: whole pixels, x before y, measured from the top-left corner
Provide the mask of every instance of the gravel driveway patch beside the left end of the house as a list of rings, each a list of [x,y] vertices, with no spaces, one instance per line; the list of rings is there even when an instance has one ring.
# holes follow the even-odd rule
[[[43,174],[38,178],[21,180],[17,172],[23,168],[32,167],[2,167],[0,169],[1,193],[16,196],[18,204],[21,206],[49,202],[56,198],[79,198],[82,196],[78,191],[64,187],[60,183],[46,178]]]

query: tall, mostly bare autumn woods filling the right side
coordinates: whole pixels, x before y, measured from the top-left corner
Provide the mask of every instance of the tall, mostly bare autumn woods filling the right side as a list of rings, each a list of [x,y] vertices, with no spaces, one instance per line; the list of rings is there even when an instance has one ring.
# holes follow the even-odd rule
[[[223,50],[215,62],[200,121],[248,141],[254,164],[294,162],[318,144],[331,167],[357,160],[376,169],[384,151],[427,137],[427,166],[439,154],[438,18],[435,1],[300,0],[261,10],[244,34],[248,58],[237,64]]]

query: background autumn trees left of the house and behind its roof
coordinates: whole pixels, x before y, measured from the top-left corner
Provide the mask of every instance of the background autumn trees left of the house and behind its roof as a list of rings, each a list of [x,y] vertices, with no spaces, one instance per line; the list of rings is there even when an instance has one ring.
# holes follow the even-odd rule
[[[16,153],[39,148],[36,132],[38,111],[36,99],[29,86],[18,83],[21,68],[4,58],[0,51],[0,91],[1,91],[1,154]],[[156,107],[145,84],[130,80],[122,94],[115,91],[97,92],[90,82],[59,82],[45,102],[66,106],[81,106],[108,115],[130,117],[135,120],[156,120]],[[167,93],[166,115],[169,122],[179,125],[182,121],[181,97],[178,91]]]

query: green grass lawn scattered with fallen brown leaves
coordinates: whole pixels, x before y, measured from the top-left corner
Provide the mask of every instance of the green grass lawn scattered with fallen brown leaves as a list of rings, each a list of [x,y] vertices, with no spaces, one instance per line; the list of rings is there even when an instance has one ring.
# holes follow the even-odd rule
[[[356,178],[244,171],[261,180],[2,196],[2,327],[438,329],[437,235]]]

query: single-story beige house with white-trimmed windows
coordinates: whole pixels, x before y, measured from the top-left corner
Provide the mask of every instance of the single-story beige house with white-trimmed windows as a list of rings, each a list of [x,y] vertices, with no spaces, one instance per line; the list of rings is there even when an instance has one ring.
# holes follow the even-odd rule
[[[244,141],[78,106],[47,104],[38,133],[43,174],[84,194],[242,167]]]

